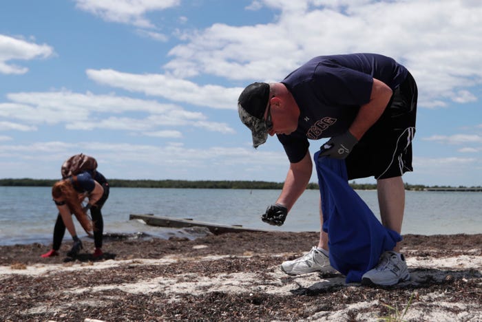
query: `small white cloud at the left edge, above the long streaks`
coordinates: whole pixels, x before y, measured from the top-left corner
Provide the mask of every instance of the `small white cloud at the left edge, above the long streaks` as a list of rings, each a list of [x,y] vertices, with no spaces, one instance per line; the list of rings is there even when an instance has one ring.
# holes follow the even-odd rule
[[[9,63],[12,60],[30,61],[35,58],[48,58],[54,54],[49,45],[37,45],[23,39],[0,34],[0,74],[25,74],[27,67]]]

